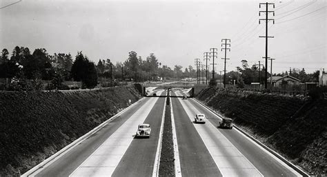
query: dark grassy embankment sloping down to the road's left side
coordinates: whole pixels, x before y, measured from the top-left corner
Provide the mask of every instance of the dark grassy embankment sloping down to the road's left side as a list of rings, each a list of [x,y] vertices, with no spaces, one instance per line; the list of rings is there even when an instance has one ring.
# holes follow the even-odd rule
[[[0,176],[19,175],[139,99],[133,87],[0,92]]]

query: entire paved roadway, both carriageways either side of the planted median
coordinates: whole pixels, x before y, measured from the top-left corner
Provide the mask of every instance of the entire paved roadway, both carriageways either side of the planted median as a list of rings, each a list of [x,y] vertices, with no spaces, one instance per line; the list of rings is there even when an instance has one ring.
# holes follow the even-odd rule
[[[165,99],[144,98],[30,176],[152,176]],[[220,118],[192,98],[171,101],[181,176],[300,176],[237,129],[217,128]],[[193,123],[197,113],[205,124]],[[150,124],[150,138],[134,137],[140,123]]]

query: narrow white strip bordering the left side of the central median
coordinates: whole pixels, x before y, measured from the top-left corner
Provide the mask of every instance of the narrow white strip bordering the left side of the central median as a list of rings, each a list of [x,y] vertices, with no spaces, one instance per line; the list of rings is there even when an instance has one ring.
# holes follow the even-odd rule
[[[162,135],[164,133],[164,121],[165,121],[165,112],[166,112],[166,99],[164,104],[164,112],[161,118],[160,133],[157,145],[157,152],[155,155],[155,165],[153,165],[152,177],[159,176],[159,165],[160,165],[160,154],[161,154],[161,145],[162,145]]]

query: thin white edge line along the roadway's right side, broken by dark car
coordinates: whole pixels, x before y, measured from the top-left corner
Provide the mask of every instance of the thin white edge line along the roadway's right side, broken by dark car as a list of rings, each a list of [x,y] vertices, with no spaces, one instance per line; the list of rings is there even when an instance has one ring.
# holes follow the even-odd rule
[[[199,104],[197,101],[195,101],[195,103]],[[205,107],[204,105],[201,105],[201,107],[204,107],[206,110],[208,110],[209,112],[212,112],[213,115],[215,115],[217,118],[219,118],[220,120],[222,120],[220,114],[219,116],[217,116],[212,110],[209,110],[207,107]],[[295,171],[295,169],[291,168],[289,165],[287,165],[286,163],[284,163],[282,160],[280,160],[279,158],[277,158],[274,154],[270,153],[267,149],[265,149],[264,147],[262,147],[261,145],[259,145],[258,143],[256,143],[254,140],[252,140],[251,138],[249,138],[248,136],[246,136],[245,134],[239,132],[238,129],[235,129],[236,132],[238,132],[239,134],[241,134],[241,136],[244,136],[245,138],[247,138],[248,140],[251,141],[251,143],[253,143],[254,145],[256,145],[257,147],[259,147],[259,149],[261,149],[262,151],[264,151],[266,154],[268,154],[270,157],[272,157],[273,159],[275,159],[279,164],[281,164],[282,166],[286,167],[286,169],[290,170],[290,172],[292,172],[293,174],[295,174],[295,176],[302,176],[301,174],[299,174],[297,171]],[[276,152],[277,153],[277,152]]]

